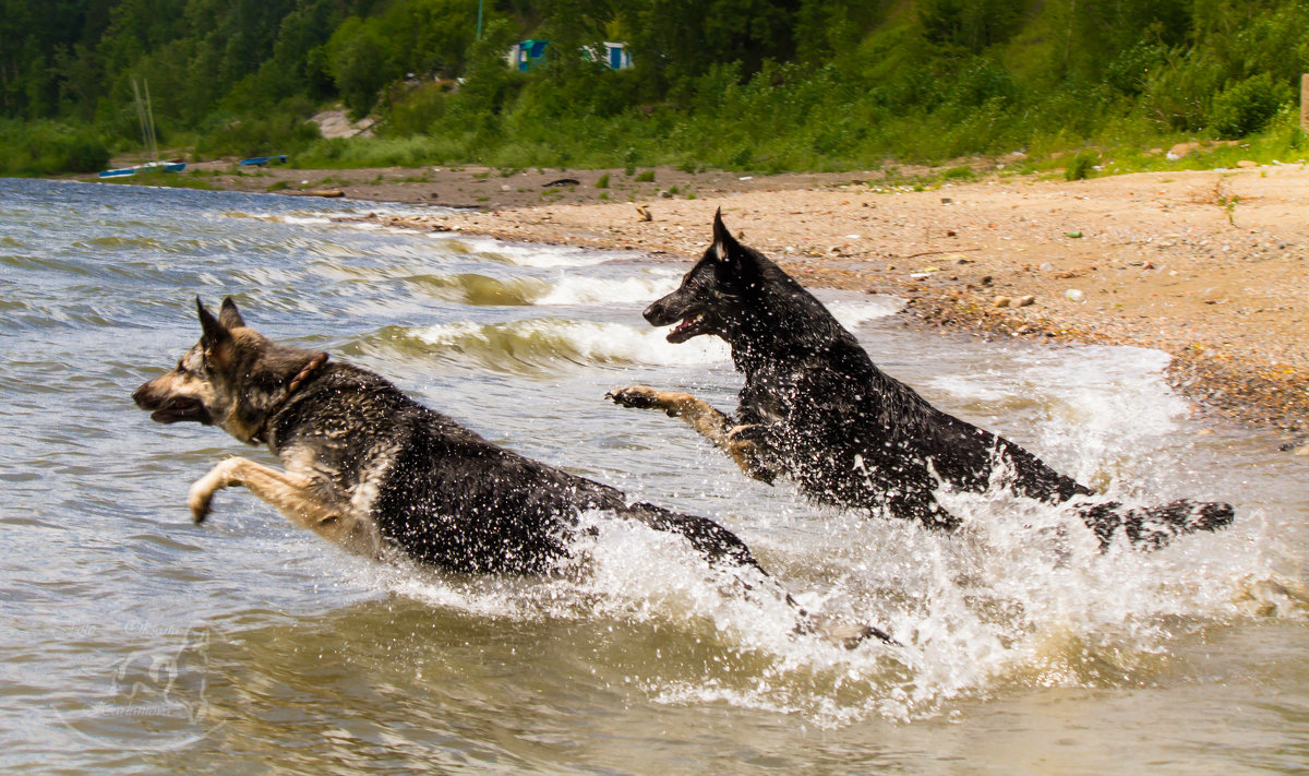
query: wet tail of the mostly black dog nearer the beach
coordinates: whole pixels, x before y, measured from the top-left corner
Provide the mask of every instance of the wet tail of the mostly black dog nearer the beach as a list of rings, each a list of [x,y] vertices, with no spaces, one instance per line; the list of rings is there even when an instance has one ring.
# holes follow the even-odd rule
[[[1232,524],[1230,503],[1196,502],[1186,498],[1160,505],[1127,507],[1119,501],[1084,503],[1077,514],[1096,532],[1100,549],[1109,547],[1122,530],[1136,549],[1160,549],[1182,534],[1217,531]]]

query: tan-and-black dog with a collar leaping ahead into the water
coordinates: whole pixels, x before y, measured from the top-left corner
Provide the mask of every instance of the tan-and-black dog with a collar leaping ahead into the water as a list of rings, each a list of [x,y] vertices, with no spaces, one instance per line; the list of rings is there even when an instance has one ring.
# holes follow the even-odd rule
[[[217,316],[199,299],[196,308],[200,341],[134,400],[154,421],[213,425],[266,444],[285,467],[219,463],[191,486],[198,523],[216,492],[243,486],[293,524],[357,554],[534,574],[569,556],[583,513],[596,511],[675,534],[711,565],[762,573],[745,543],[713,520],[628,503],[615,488],[499,447],[374,372],[271,342],[245,324],[232,299]],[[890,641],[876,628],[822,623],[798,608],[797,623],[800,632],[846,646],[868,636]]]

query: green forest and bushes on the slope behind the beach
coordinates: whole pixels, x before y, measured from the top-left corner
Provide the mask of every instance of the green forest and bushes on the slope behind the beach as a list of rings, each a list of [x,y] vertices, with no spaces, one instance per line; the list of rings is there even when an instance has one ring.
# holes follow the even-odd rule
[[[1296,155],[1309,0],[0,0],[0,174],[191,159],[869,169]],[[505,52],[548,41],[526,72]],[[588,55],[626,43],[632,67]],[[376,136],[323,139],[339,104]]]

